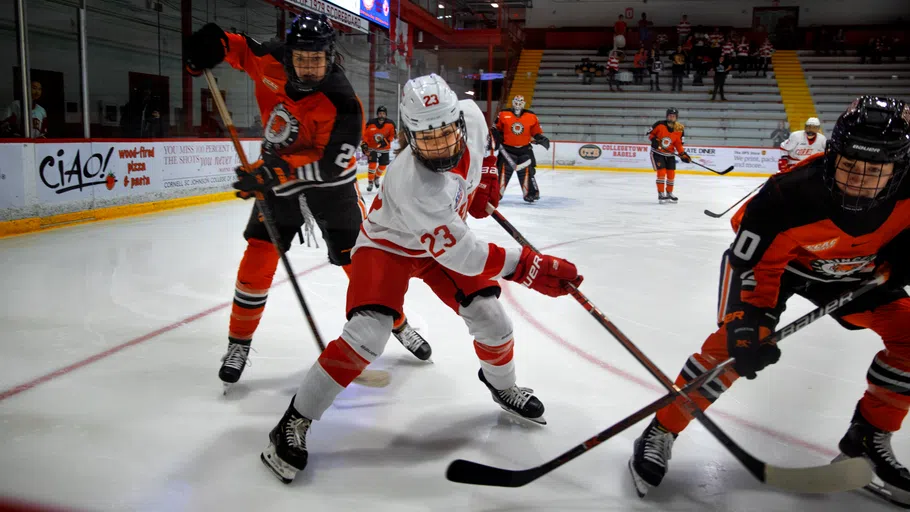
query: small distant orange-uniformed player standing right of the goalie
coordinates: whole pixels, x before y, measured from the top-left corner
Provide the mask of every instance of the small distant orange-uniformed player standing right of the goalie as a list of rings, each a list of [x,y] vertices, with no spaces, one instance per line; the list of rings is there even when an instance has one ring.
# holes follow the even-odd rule
[[[654,123],[648,132],[648,140],[651,141],[651,165],[657,172],[657,201],[660,204],[679,201],[679,198],[673,195],[673,187],[676,185],[675,153],[679,154],[679,159],[683,162],[692,161],[683,148],[686,133],[678,118],[679,110],[668,108],[667,118]]]

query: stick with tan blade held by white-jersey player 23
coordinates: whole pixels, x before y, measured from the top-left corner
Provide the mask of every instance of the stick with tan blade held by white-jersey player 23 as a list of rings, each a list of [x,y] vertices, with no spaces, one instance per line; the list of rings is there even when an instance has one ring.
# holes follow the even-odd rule
[[[512,225],[501,213],[496,211],[492,205],[487,205],[487,211],[491,213],[496,222],[499,223],[512,238],[519,244],[528,246],[535,250],[528,240]],[[871,284],[871,283],[870,283]],[[876,283],[877,286],[877,283]],[[654,378],[660,381],[661,385],[667,391],[679,393],[677,387],[669,377],[664,374],[657,365],[651,361],[622,331],[616,327],[581,291],[575,286],[567,285],[572,297],[578,301],[597,322],[603,326],[635,359],[638,360],[645,369],[648,370]],[[856,296],[856,292],[853,293]],[[852,300],[852,299],[851,299]],[[830,310],[828,310],[830,311]],[[805,318],[805,317],[804,317]],[[794,331],[795,332],[795,331]],[[792,334],[792,333],[791,333]],[[789,336],[789,334],[787,334]],[[688,397],[686,397],[688,399]],[[691,400],[689,400],[691,403]],[[692,414],[695,418],[714,435],[717,440],[736,459],[752,473],[760,482],[766,483],[779,489],[793,492],[804,493],[823,493],[839,492],[858,489],[869,484],[872,481],[872,469],[864,459],[848,459],[839,462],[826,464],[824,466],[815,466],[808,468],[784,468],[773,466],[764,461],[755,458],[752,454],[745,451],[739,444],[731,439],[720,427],[717,426],[708,416],[697,406],[692,408]]]

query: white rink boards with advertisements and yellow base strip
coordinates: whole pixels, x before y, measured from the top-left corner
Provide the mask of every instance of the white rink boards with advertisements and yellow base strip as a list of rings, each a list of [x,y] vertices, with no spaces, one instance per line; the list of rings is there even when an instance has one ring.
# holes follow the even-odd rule
[[[259,154],[259,139],[242,141]],[[539,168],[650,172],[644,144],[553,141],[533,146]],[[776,172],[775,148],[688,146],[689,154],[732,175]],[[361,162],[364,159],[361,158]],[[227,200],[240,159],[227,139],[99,139],[0,143],[0,236]],[[361,163],[365,171],[365,163]],[[681,173],[710,174],[677,163]]]

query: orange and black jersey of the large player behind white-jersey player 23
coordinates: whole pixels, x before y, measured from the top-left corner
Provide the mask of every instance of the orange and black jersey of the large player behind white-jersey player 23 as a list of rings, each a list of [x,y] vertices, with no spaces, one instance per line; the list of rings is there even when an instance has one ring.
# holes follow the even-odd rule
[[[356,180],[354,155],[363,133],[363,108],[341,68],[335,66],[319,89],[300,93],[286,87],[283,43],[227,36],[225,60],[256,84],[256,102],[265,120],[263,158],[278,156],[296,178],[275,187],[276,194]]]

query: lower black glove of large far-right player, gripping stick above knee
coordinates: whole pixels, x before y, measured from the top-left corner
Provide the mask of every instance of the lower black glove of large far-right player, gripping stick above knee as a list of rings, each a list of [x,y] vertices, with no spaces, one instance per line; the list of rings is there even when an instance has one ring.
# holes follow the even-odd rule
[[[768,310],[743,304],[736,311],[727,313],[724,329],[727,334],[727,352],[736,359],[736,373],[752,380],[756,372],[780,359],[777,343],[762,343],[771,329],[761,325]],[[776,324],[776,322],[775,322]]]

